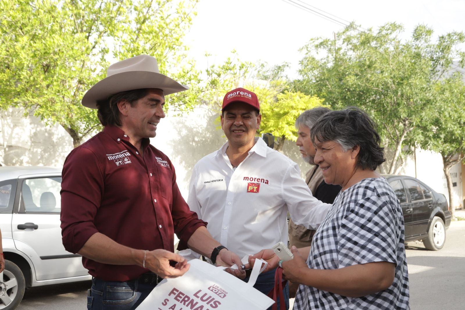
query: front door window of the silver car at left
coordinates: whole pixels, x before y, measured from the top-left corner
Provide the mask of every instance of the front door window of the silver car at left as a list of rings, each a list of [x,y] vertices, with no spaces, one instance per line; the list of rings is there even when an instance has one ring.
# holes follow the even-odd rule
[[[61,177],[42,177],[24,180],[21,201],[26,213],[60,213]]]

